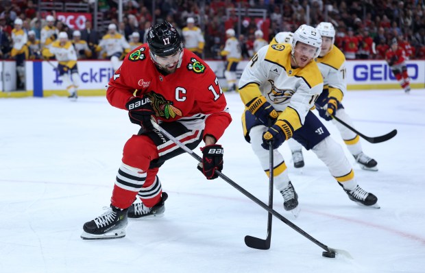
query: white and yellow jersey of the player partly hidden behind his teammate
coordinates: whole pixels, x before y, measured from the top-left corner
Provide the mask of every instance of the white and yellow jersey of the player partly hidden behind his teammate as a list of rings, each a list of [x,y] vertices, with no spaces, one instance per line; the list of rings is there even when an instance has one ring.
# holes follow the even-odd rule
[[[335,97],[339,102],[347,91],[345,77],[345,56],[335,45],[328,54],[316,59],[324,80],[324,88],[329,89],[329,97]]]

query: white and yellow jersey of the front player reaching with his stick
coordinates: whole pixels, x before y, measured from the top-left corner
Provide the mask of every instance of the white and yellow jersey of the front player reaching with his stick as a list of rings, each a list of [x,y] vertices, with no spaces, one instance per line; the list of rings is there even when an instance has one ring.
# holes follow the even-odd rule
[[[239,81],[239,95],[246,105],[265,96],[278,112],[279,119],[301,128],[305,117],[323,89],[323,78],[316,62],[303,68],[291,67],[291,45],[262,47],[245,67]]]

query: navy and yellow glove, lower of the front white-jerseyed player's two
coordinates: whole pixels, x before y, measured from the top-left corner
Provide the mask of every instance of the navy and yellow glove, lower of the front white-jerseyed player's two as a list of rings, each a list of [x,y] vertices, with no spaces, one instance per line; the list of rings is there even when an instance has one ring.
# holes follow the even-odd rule
[[[273,141],[273,150],[277,149],[284,141],[290,139],[292,137],[292,127],[288,125],[286,121],[278,119],[274,126],[271,126],[269,130],[267,130],[263,134],[263,143],[261,146],[265,148],[265,150],[269,150],[269,142]]]

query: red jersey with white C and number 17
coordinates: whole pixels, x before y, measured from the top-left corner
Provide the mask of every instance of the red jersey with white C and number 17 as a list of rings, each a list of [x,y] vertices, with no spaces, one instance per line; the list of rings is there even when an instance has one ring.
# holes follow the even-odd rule
[[[232,121],[226,98],[213,70],[187,49],[174,73],[162,75],[143,44],[125,56],[123,64],[110,78],[106,97],[117,108],[125,109],[132,97],[147,94],[160,121],[199,121],[204,137],[219,139]]]

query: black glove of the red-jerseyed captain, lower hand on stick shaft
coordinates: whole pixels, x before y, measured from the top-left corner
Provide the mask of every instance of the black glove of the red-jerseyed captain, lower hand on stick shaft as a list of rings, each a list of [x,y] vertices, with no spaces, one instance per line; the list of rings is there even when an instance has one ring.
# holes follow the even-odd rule
[[[197,165],[197,169],[202,171],[202,174],[208,180],[219,177],[215,171],[223,169],[223,147],[217,144],[206,145],[201,148],[201,151],[204,154],[202,156],[202,166],[201,164]]]

